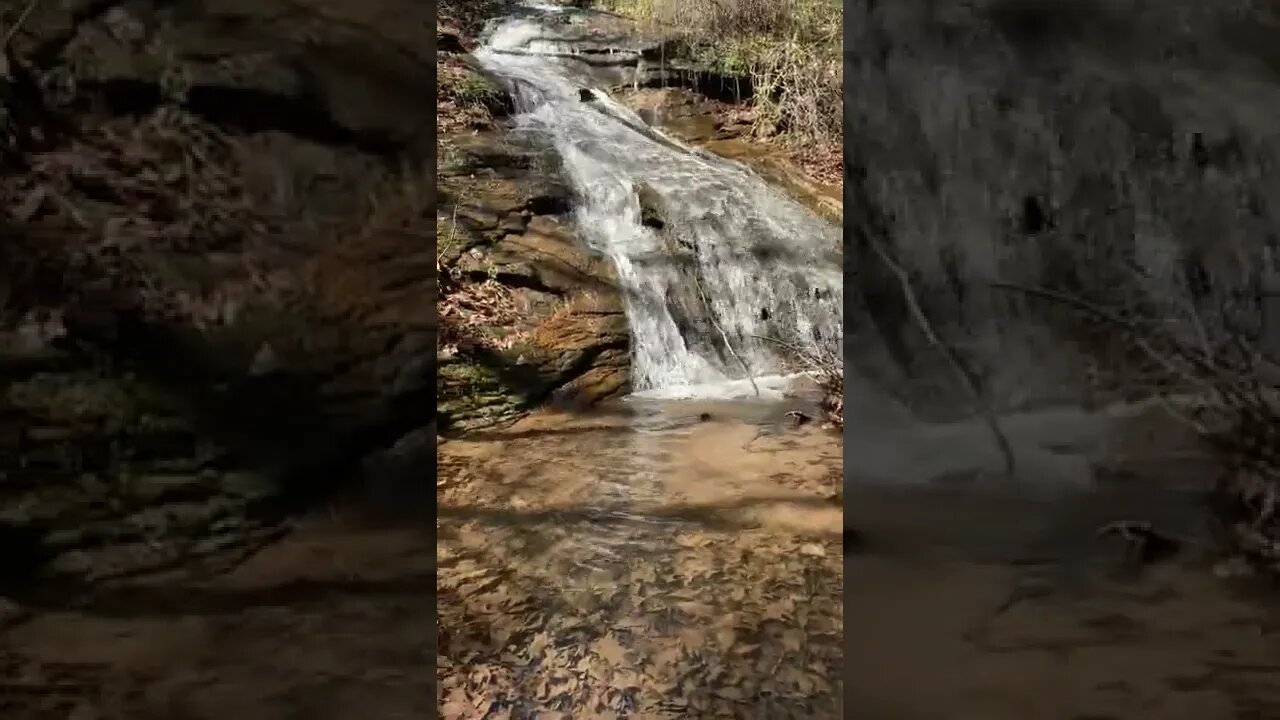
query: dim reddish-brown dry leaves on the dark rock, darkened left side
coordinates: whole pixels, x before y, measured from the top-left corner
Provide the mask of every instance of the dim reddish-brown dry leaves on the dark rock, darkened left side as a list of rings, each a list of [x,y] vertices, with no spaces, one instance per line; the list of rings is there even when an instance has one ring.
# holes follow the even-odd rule
[[[148,268],[161,254],[239,250],[265,228],[236,172],[241,150],[216,128],[161,108],[14,158],[26,172],[8,176],[0,201],[22,228],[9,250],[26,272],[8,278],[9,311],[106,283],[155,319],[225,319],[228,299],[161,287]],[[244,277],[255,282],[253,268]]]

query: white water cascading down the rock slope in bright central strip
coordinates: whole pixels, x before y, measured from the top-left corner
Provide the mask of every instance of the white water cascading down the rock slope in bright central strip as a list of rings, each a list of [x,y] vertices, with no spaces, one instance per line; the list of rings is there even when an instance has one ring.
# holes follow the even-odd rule
[[[768,384],[785,370],[778,343],[762,338],[841,355],[840,229],[614,101],[582,51],[640,53],[593,40],[584,18],[529,5],[492,27],[476,58],[509,88],[520,129],[549,138],[581,236],[617,266],[635,389],[750,392],[745,378]],[[662,229],[641,222],[641,188],[660,201]]]

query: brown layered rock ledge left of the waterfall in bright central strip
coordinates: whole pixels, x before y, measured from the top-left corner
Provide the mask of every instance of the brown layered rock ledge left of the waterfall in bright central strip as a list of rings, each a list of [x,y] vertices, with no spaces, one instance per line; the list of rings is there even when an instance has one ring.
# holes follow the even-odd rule
[[[448,137],[439,164],[440,252],[460,299],[489,283],[509,323],[447,331],[439,405],[451,429],[552,402],[626,392],[630,334],[613,266],[576,237],[554,151],[495,129]],[[447,286],[449,283],[445,283]]]

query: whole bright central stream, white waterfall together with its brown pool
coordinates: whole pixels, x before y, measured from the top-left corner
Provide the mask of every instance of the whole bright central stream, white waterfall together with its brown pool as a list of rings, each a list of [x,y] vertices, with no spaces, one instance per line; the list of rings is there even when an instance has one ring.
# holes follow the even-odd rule
[[[840,717],[840,442],[780,351],[840,354],[840,228],[611,97],[654,44],[600,18],[475,56],[617,269],[634,392],[440,445],[442,714]]]

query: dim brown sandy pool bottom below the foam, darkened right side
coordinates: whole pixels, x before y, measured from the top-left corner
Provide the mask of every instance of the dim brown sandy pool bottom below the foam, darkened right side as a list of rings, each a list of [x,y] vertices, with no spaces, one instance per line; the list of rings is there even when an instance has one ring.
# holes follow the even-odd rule
[[[1280,717],[1274,589],[1228,583],[1192,556],[1138,573],[1088,556],[1096,541],[1087,521],[1106,518],[1107,505],[1125,512],[1115,497],[1093,507],[1080,497],[1000,507],[956,500],[963,495],[940,506],[850,491],[850,523],[868,532],[845,565],[849,717]],[[1055,510],[1070,516],[1055,547],[1070,537],[1079,547],[1019,559],[1030,548],[1019,547],[1023,530],[1037,525],[1029,516]],[[947,516],[956,520],[950,530],[928,530]],[[1053,536],[1051,520],[1041,538]],[[1004,559],[978,551],[1001,534]]]

